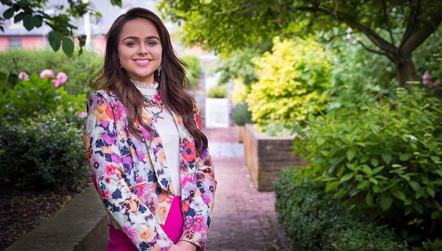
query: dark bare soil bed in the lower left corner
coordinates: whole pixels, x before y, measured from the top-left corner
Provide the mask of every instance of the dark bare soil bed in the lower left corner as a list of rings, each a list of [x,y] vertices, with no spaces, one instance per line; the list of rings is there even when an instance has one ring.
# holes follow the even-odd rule
[[[0,251],[64,207],[77,192],[0,188]]]

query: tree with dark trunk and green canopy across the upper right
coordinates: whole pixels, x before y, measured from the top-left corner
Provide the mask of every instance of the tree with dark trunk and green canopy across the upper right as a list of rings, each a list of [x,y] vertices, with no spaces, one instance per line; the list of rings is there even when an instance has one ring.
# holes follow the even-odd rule
[[[232,52],[266,38],[361,33],[366,50],[387,57],[400,86],[417,80],[412,52],[442,21],[442,2],[433,0],[163,0],[164,17],[184,21],[184,39],[217,52]]]

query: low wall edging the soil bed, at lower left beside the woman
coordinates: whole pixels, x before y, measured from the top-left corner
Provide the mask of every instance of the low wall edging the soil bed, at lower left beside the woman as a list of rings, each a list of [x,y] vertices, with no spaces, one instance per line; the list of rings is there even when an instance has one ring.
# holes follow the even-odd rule
[[[93,186],[5,250],[105,250],[107,217]]]

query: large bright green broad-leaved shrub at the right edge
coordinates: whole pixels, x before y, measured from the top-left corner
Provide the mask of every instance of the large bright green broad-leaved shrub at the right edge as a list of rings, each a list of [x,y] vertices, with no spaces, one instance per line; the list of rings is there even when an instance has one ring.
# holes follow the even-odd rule
[[[324,182],[343,205],[383,217],[416,244],[440,237],[442,102],[407,88],[397,99],[309,116],[293,149],[311,161],[300,179]]]

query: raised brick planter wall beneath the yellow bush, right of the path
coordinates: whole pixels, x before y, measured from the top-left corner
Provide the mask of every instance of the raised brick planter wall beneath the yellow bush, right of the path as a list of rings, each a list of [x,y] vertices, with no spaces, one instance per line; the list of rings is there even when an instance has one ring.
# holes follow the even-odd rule
[[[246,124],[244,151],[247,167],[258,191],[273,191],[276,176],[287,166],[304,166],[292,153],[293,137],[272,137]]]

